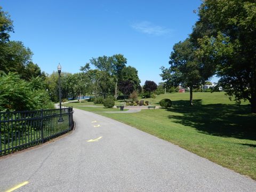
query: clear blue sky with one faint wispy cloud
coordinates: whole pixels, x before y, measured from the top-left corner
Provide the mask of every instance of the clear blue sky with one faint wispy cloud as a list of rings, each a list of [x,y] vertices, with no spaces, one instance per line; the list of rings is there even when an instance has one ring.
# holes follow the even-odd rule
[[[14,32],[48,74],[79,72],[94,57],[123,54],[141,84],[159,83],[175,43],[191,33],[200,0],[1,0]],[[91,66],[92,67],[92,66]]]

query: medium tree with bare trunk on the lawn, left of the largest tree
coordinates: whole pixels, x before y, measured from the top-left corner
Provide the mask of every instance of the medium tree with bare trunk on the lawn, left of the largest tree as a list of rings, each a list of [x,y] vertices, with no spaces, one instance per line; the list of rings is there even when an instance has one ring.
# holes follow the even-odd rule
[[[195,47],[190,39],[176,43],[171,52],[169,64],[170,68],[161,67],[162,79],[169,86],[189,87],[190,105],[193,105],[193,89],[197,88],[204,80],[209,77],[202,76],[202,69],[197,62]]]

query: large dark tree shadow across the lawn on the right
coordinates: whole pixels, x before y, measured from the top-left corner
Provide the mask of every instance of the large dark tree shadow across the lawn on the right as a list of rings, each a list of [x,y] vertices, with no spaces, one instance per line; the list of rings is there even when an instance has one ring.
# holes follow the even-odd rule
[[[172,101],[172,108],[166,109],[180,115],[169,115],[175,123],[195,127],[199,132],[221,137],[256,140],[256,115],[250,113],[249,105],[209,104],[201,100]]]

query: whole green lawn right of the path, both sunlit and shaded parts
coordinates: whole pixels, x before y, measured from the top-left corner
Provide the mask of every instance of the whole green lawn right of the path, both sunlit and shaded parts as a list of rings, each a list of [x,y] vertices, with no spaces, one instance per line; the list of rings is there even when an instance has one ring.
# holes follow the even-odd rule
[[[170,141],[212,162],[256,180],[256,115],[248,102],[236,105],[223,93],[158,95],[151,105],[169,98],[170,109],[141,110],[133,114],[101,113],[139,130]],[[87,109],[85,109],[87,110]]]

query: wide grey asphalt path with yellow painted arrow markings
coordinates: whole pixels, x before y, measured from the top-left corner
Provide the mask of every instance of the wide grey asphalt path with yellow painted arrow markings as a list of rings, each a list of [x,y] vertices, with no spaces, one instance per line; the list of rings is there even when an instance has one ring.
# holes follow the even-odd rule
[[[256,190],[254,180],[131,126],[79,109],[74,119],[66,137],[1,158],[0,191]]]

